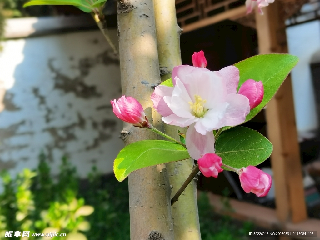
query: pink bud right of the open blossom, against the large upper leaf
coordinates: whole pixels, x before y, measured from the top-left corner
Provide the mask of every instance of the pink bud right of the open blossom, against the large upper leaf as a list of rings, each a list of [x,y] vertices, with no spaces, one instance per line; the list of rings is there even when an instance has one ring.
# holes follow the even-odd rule
[[[241,85],[238,94],[244,95],[249,99],[251,110],[257,107],[263,99],[263,84],[261,81],[256,82],[253,79],[248,79]]]

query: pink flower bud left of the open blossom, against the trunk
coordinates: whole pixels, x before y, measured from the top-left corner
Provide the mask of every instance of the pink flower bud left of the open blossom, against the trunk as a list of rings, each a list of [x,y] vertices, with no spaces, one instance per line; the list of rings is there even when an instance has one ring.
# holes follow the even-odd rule
[[[114,114],[126,123],[136,127],[145,127],[148,119],[143,108],[137,100],[132,97],[122,96],[118,101],[110,101]]]

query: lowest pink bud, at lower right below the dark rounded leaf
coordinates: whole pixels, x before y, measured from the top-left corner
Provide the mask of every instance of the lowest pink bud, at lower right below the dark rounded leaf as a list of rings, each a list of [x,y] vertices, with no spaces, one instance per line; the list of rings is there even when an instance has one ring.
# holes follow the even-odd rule
[[[268,194],[272,179],[271,176],[254,166],[243,167],[239,171],[241,187],[246,193],[254,193],[258,197]]]

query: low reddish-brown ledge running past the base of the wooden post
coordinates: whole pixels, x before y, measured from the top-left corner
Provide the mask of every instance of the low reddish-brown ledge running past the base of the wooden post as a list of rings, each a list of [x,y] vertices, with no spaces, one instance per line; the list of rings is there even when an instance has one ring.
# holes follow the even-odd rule
[[[200,191],[198,191],[200,194]],[[210,204],[218,214],[225,214],[241,221],[252,221],[255,225],[270,230],[288,230],[288,231],[317,231],[317,237],[312,239],[320,240],[320,220],[307,219],[300,223],[286,223],[284,225],[277,219],[276,210],[269,207],[263,207],[258,204],[240,202],[236,199],[228,198],[232,211],[226,210],[223,206],[222,196],[208,193]],[[310,237],[301,237],[297,239],[311,239]]]

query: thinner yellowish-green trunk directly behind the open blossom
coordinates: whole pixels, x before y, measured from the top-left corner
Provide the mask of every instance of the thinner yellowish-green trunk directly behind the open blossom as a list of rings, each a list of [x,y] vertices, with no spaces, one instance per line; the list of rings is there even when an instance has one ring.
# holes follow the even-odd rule
[[[171,77],[173,67],[181,65],[180,34],[177,24],[175,1],[154,0],[157,46],[161,80]],[[164,124],[164,131],[171,137],[180,140],[180,132],[186,129]],[[188,178],[194,160],[188,159],[167,164],[170,184],[173,186],[171,197],[179,190]],[[196,180],[193,180],[179,201],[172,205],[173,229],[176,240],[200,240],[200,225],[196,198]]]

